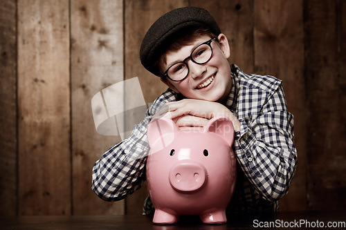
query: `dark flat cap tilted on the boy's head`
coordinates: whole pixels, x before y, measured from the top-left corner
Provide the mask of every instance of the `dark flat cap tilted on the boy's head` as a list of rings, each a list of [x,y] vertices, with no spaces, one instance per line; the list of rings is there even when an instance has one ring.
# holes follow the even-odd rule
[[[167,12],[152,24],[140,45],[143,66],[159,76],[155,63],[165,50],[166,41],[183,29],[201,26],[209,28],[215,35],[221,33],[215,19],[203,8],[189,6]]]

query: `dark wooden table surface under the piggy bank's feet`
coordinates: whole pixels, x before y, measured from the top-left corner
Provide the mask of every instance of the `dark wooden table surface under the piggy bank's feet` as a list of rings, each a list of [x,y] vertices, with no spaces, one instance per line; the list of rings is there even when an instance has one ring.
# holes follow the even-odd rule
[[[328,227],[327,224],[331,226]],[[182,217],[177,224],[156,225],[152,224],[152,218],[146,215],[0,216],[0,229],[346,229],[345,224],[346,211],[239,215],[228,217],[227,224],[215,225],[202,224],[197,217]]]

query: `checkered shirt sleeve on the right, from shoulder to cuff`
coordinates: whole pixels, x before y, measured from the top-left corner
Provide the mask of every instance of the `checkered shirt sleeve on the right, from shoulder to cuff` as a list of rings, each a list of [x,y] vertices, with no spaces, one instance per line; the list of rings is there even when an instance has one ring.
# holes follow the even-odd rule
[[[253,88],[239,93],[249,105],[239,104],[239,113],[246,111],[239,117],[242,126],[234,143],[239,165],[265,200],[279,200],[288,192],[297,163],[293,115],[287,111],[282,84],[273,94]]]

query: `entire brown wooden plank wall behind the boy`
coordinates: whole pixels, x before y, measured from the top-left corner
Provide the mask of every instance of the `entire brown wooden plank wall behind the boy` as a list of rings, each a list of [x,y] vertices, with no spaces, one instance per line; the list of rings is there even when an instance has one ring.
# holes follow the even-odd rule
[[[91,191],[91,168],[120,137],[96,133],[91,98],[139,77],[145,102],[163,91],[140,42],[165,12],[200,6],[230,41],[230,62],[283,80],[295,116],[298,169],[282,211],[345,209],[345,34],[342,0],[0,1],[0,215],[141,213]]]

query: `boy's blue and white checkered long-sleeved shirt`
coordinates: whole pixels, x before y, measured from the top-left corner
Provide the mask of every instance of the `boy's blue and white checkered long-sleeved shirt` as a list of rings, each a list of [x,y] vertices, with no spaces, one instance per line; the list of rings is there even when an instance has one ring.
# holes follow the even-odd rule
[[[287,111],[282,82],[271,76],[246,75],[231,65],[233,88],[225,104],[241,122],[233,150],[237,183],[228,213],[278,211],[277,200],[289,191],[297,164],[293,115]],[[149,107],[127,140],[111,147],[93,166],[92,189],[102,200],[117,201],[134,193],[145,181],[149,146],[147,126],[167,102],[183,99],[166,90]],[[154,211],[149,197],[143,213]]]

